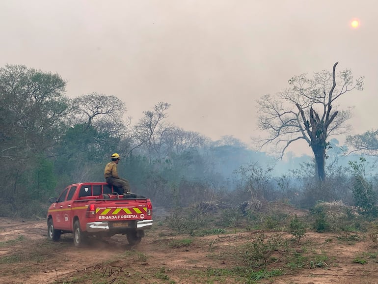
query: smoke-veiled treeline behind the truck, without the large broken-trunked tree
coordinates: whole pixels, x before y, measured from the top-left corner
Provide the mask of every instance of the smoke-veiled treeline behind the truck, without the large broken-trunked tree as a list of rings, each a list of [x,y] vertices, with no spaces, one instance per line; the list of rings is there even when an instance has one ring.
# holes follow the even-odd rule
[[[116,96],[94,92],[70,99],[65,86],[58,74],[0,68],[0,216],[44,217],[47,199],[66,185],[104,181],[113,152],[121,156],[119,173],[132,191],[155,205],[353,202],[353,170],[342,151],[330,154],[330,179],[319,187],[308,156],[276,163],[233,137],[212,141],[169,123],[168,103],[156,103],[134,122],[123,118],[127,106]]]

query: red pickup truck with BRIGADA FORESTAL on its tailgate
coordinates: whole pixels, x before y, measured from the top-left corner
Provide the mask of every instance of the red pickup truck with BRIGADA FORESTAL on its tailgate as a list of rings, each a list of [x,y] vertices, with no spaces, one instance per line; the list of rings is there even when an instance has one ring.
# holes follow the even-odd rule
[[[76,183],[53,197],[47,213],[48,238],[56,241],[63,233],[74,234],[74,244],[87,238],[126,234],[130,245],[137,245],[144,230],[152,227],[151,200],[136,194],[119,195],[118,188],[106,182]]]

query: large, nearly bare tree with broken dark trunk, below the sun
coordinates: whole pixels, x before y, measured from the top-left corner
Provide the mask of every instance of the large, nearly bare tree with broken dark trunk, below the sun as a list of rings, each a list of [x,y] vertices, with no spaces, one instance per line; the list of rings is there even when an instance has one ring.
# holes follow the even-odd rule
[[[336,76],[336,62],[332,73],[316,72],[313,79],[306,74],[289,80],[290,88],[275,96],[265,95],[258,100],[259,128],[269,132],[262,146],[273,143],[281,158],[288,146],[304,139],[311,147],[319,180],[325,178],[324,163],[327,139],[331,135],[345,134],[350,126],[351,109],[336,110],[335,101],[353,89],[363,89],[363,78],[353,80],[351,70]]]

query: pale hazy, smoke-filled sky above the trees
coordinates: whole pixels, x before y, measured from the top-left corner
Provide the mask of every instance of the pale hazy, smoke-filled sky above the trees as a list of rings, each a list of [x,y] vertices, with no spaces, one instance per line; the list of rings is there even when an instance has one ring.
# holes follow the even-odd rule
[[[377,0],[0,0],[0,66],[57,72],[70,97],[116,95],[133,122],[168,102],[177,126],[250,143],[256,99],[338,61],[365,76],[340,101],[362,133],[378,128],[377,10]]]

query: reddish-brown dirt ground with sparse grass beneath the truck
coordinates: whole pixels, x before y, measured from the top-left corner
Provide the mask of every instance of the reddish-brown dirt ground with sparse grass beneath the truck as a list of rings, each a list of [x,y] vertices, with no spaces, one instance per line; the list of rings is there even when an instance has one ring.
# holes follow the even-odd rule
[[[244,230],[195,237],[185,247],[169,245],[185,236],[169,235],[159,226],[147,232],[135,248],[121,235],[92,242],[86,248],[75,248],[72,237],[72,234],[64,234],[58,242],[51,242],[47,239],[44,220],[0,218],[0,283],[243,283],[232,277],[206,279],[203,274],[196,274],[209,268],[216,271],[240,265],[223,252],[237,250],[238,245],[255,238],[256,232]],[[357,256],[377,253],[372,242],[362,236],[356,242],[338,242],[337,237],[335,233],[307,232],[305,241],[332,256],[332,261],[324,263],[323,267],[285,273],[258,283],[378,283],[378,260],[365,257],[366,263],[353,262]],[[279,265],[282,264],[277,267]],[[93,271],[102,274],[101,282],[86,278]],[[130,282],[117,280],[116,276],[121,273],[130,274]],[[150,276],[144,279],[144,273]]]

